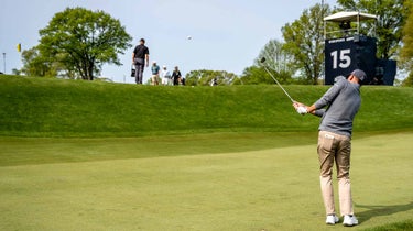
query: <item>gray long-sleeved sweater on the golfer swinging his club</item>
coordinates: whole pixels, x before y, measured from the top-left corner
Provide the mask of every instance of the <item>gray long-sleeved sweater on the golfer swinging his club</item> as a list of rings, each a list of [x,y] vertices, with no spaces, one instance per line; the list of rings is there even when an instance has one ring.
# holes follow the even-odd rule
[[[344,76],[314,105],[315,114],[323,117],[319,131],[333,132],[351,138],[352,120],[360,108],[360,85],[348,81]],[[322,109],[328,106],[326,110]]]

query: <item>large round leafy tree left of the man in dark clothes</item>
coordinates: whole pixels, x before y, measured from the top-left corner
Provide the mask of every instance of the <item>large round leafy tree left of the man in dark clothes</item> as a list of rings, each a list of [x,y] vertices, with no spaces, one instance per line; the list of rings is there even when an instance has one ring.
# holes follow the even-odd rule
[[[56,13],[40,35],[41,56],[58,61],[67,70],[88,80],[106,63],[121,65],[118,54],[124,54],[132,40],[119,20],[84,8]]]

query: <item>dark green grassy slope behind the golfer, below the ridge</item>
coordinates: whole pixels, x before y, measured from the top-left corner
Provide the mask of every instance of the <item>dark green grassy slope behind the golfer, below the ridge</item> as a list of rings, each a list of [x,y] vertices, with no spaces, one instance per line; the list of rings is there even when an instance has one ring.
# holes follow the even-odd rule
[[[327,86],[285,86],[312,103]],[[356,131],[413,128],[413,89],[362,87]],[[0,135],[141,136],[315,131],[278,86],[163,87],[0,77]]]

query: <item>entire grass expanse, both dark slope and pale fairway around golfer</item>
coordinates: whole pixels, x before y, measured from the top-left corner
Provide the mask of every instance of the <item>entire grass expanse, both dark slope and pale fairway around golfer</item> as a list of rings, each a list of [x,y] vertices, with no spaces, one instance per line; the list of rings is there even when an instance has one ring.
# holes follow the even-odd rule
[[[412,227],[412,98],[362,87],[352,230]],[[319,119],[276,86],[0,76],[0,230],[348,230],[324,224]]]

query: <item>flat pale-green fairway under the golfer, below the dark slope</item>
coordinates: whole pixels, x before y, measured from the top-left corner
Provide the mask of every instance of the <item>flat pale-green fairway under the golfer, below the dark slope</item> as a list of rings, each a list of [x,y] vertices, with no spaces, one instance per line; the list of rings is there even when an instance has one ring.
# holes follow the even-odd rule
[[[238,136],[227,141],[228,148],[219,135],[207,143],[187,139],[191,152],[169,146],[166,139],[123,139],[134,145],[109,145],[118,157],[99,156],[110,152],[98,139],[91,146],[86,139],[42,146],[34,145],[39,140],[2,138],[0,230],[346,230],[324,223],[312,135],[296,135],[303,145],[278,145],[270,135],[271,144],[265,133],[254,143]],[[360,226],[351,230],[413,217],[412,140],[412,132],[354,140],[352,194]],[[161,152],[160,145],[167,155],[144,154]],[[37,153],[32,160],[29,150]],[[73,155],[87,157],[70,157],[74,150]]]

